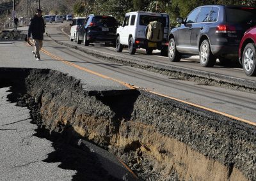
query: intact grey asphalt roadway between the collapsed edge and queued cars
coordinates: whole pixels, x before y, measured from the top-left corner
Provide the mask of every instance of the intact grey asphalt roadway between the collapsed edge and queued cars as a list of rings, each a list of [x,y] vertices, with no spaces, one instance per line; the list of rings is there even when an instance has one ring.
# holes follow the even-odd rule
[[[47,24],[46,31],[54,40],[63,41],[76,45],[75,42],[70,42],[67,35],[61,32],[63,24]],[[31,55],[31,47],[20,41],[4,42],[0,44],[1,51],[5,56],[2,66],[7,67],[27,67],[27,68],[51,68],[57,69],[68,75],[79,78],[84,83],[84,88],[88,90],[110,90],[110,89],[128,89],[120,82],[129,83],[148,89],[150,91],[164,94],[171,98],[186,101],[191,104],[203,106],[217,112],[227,113],[237,119],[244,119],[250,122],[255,120],[255,101],[256,94],[245,91],[234,91],[221,87],[213,87],[202,85],[196,82],[188,82],[186,80],[177,80],[175,78],[159,75],[142,69],[131,68],[122,64],[116,64],[109,61],[104,61],[97,57],[84,54],[74,48],[65,47],[52,41],[45,36],[44,52],[41,52],[42,61],[36,62]],[[167,57],[155,55],[145,55],[144,50],[140,50],[135,55],[129,55],[127,50],[122,54],[115,52],[114,47],[104,47],[98,43],[84,47],[89,50],[99,50],[108,54],[119,54],[122,57],[129,59],[138,59],[139,61],[155,62],[164,66],[180,65],[190,69],[199,69],[204,71],[213,71],[228,76],[236,76],[239,78],[254,80],[254,77],[245,76],[241,68],[202,68],[198,62],[193,59],[182,60],[181,62],[170,62]],[[12,52],[8,52],[13,49]],[[19,53],[18,53],[19,52]],[[96,75],[97,74],[97,75]],[[100,75],[99,75],[100,74]],[[114,80],[114,81],[113,81]],[[120,82],[116,82],[120,81]]]

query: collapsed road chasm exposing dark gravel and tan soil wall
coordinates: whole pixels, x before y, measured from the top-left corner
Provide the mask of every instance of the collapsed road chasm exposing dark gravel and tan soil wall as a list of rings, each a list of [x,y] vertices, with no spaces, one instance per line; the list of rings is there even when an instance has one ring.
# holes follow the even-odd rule
[[[0,68],[8,86],[42,133],[91,141],[142,180],[256,180],[252,125],[146,91],[86,91],[50,69]]]

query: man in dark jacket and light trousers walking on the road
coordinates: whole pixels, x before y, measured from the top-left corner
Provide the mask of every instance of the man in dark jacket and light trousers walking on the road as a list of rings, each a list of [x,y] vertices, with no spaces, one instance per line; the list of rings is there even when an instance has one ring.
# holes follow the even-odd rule
[[[29,28],[28,28],[28,41],[32,34],[33,41],[35,43],[35,50],[32,51],[34,54],[36,61],[40,61],[39,51],[43,47],[44,40],[44,18],[42,18],[42,10],[37,9],[35,16],[30,20]]]

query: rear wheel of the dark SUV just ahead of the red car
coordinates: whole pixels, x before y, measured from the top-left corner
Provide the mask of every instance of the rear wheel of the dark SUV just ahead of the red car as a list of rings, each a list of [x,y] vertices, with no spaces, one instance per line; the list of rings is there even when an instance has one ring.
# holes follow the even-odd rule
[[[200,64],[204,67],[213,67],[216,58],[211,52],[209,40],[204,40],[200,46]]]

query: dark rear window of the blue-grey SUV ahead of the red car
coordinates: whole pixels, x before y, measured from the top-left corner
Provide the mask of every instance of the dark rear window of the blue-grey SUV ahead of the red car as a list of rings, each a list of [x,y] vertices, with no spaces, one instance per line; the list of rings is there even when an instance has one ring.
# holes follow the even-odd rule
[[[255,23],[256,8],[227,8],[227,22],[234,24]]]

